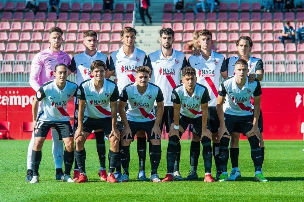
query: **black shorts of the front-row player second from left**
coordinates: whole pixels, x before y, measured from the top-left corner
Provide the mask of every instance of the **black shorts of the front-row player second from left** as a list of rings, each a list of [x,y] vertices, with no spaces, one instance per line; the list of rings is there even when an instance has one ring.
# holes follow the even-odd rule
[[[109,135],[112,131],[112,118],[100,118],[100,119],[93,119],[90,117],[83,118],[83,131],[87,133],[92,133],[95,129],[102,129],[105,135]]]

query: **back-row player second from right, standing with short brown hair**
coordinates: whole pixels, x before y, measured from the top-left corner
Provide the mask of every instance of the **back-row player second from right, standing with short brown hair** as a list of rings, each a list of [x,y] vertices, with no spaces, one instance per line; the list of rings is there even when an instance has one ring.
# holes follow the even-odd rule
[[[190,56],[188,59],[188,66],[192,66],[195,69],[196,75],[198,75],[197,83],[207,87],[211,98],[208,104],[208,116],[212,133],[212,149],[216,165],[216,179],[218,179],[221,171],[219,164],[219,140],[217,134],[219,130],[219,117],[216,112],[216,99],[220,76],[226,79],[228,73],[224,56],[211,50],[213,40],[212,33],[208,29],[203,29],[199,32],[198,44],[201,47],[201,54],[199,57]],[[196,133],[192,134],[193,139],[190,146],[191,171],[186,180],[198,178],[196,170],[199,160],[200,143]]]

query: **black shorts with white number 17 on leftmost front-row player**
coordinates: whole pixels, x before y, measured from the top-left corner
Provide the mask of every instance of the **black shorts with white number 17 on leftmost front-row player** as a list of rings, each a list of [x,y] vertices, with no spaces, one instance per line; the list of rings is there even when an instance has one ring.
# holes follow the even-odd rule
[[[54,122],[54,121],[37,121],[35,127],[35,137],[47,137],[50,128],[54,127],[59,135],[59,140],[67,137],[74,137],[73,129],[69,121]]]

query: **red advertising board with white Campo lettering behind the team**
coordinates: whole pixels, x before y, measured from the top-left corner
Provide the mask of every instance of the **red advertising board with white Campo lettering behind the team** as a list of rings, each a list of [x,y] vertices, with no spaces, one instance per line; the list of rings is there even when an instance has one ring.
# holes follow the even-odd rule
[[[265,140],[303,140],[300,131],[304,122],[304,88],[262,88],[261,109]],[[0,121],[10,122],[12,139],[30,139],[30,133],[20,135],[22,122],[32,121],[34,90],[30,87],[0,88]],[[73,102],[68,103],[73,116]],[[183,135],[188,139],[188,134]],[[187,136],[187,137],[186,137]],[[50,139],[51,136],[48,136]],[[244,139],[244,137],[241,137]]]

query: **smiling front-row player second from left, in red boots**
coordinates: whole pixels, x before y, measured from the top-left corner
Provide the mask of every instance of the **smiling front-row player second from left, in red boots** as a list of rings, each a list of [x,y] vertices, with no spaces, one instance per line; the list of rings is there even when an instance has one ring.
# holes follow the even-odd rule
[[[118,158],[120,133],[116,128],[118,88],[115,82],[105,79],[107,67],[101,60],[91,64],[92,79],[79,86],[78,129],[75,132],[75,157],[80,170],[77,183],[87,182],[85,173],[85,140],[94,128],[100,127],[110,142],[109,174],[107,182],[118,182],[113,172]]]

